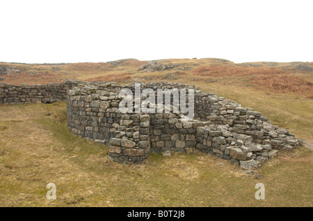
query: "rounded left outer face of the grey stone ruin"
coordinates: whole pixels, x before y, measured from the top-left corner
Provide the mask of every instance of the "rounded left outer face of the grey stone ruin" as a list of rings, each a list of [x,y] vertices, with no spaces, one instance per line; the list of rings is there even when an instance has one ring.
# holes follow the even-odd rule
[[[95,85],[74,88],[67,95],[67,126],[74,134],[107,145],[122,118],[118,103],[118,94]]]

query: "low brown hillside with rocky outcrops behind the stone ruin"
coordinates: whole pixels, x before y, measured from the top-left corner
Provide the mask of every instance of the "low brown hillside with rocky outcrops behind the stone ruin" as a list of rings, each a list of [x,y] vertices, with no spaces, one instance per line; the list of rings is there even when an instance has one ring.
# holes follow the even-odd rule
[[[22,64],[0,62],[0,81],[12,85],[46,84],[68,79],[118,83],[230,82],[276,92],[309,94],[313,97],[313,62],[243,62],[220,58],[164,59],[141,61],[134,58],[111,62]]]

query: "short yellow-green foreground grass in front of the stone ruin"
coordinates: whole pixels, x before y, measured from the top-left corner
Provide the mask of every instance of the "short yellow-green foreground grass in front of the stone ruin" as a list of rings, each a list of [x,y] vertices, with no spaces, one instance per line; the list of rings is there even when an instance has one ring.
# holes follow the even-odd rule
[[[313,206],[307,148],[281,152],[257,170],[264,179],[202,153],[152,154],[129,166],[72,134],[65,107],[0,105],[0,206]],[[57,200],[45,197],[50,182]],[[255,200],[259,182],[266,200]]]

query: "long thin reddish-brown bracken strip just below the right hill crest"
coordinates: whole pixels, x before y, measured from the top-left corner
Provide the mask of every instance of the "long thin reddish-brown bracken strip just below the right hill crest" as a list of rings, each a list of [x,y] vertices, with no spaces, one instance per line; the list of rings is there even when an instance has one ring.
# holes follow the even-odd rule
[[[254,75],[274,75],[280,73],[287,73],[281,69],[275,68],[261,68],[261,67],[239,67],[239,66],[216,66],[198,67],[193,69],[191,73],[197,76],[209,77],[238,77],[238,76],[254,76]]]

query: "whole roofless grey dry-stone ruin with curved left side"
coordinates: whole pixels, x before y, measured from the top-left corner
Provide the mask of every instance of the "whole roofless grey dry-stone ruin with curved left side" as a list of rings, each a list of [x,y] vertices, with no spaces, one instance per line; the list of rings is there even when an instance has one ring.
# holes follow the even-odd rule
[[[143,163],[150,152],[207,152],[243,169],[257,169],[278,150],[291,150],[301,140],[259,112],[205,93],[191,85],[150,82],[141,89],[195,89],[195,118],[181,113],[122,114],[119,91],[134,85],[93,83],[67,95],[67,122],[74,134],[109,144],[109,157]],[[157,97],[157,96],[156,96]],[[144,98],[143,98],[144,100]]]

